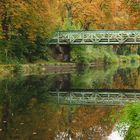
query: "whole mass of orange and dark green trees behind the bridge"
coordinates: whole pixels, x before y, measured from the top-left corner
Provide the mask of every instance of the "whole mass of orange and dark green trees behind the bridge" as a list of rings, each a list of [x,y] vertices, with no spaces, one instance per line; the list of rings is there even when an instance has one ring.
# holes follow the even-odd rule
[[[140,29],[139,15],[139,0],[1,0],[1,61],[48,59],[56,30]]]

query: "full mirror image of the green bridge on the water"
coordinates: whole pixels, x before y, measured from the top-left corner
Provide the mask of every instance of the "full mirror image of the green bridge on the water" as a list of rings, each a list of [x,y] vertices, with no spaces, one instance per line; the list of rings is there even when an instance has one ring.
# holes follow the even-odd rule
[[[125,103],[140,102],[138,90],[71,90],[49,91],[48,100],[59,104],[123,106]]]

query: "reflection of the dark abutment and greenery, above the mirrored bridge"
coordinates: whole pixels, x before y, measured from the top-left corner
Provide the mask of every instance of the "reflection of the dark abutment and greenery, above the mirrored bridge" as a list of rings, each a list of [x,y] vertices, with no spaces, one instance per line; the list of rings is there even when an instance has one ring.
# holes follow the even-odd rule
[[[84,69],[55,77],[51,89],[135,89],[140,90],[140,67],[110,66]]]

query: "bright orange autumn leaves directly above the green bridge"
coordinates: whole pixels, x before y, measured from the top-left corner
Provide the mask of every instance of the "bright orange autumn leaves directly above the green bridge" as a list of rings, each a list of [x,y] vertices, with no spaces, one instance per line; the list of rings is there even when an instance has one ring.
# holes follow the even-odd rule
[[[83,29],[133,29],[140,21],[139,0],[59,0],[63,18],[67,17],[66,4],[71,6],[73,23]],[[63,6],[62,6],[63,5]],[[62,8],[63,7],[63,8]]]

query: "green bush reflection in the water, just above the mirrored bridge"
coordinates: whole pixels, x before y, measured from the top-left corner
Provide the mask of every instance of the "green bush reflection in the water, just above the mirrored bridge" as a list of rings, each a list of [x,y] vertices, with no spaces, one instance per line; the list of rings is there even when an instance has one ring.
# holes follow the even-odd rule
[[[113,75],[117,67],[108,69],[87,69],[83,73],[73,74],[71,77],[73,88],[111,88]]]

